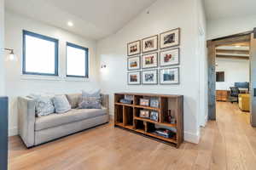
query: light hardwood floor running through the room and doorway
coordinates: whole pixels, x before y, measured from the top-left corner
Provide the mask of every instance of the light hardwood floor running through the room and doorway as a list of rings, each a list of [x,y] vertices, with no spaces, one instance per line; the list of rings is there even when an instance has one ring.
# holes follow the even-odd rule
[[[256,169],[256,128],[237,105],[217,104],[217,122],[201,129],[200,144],[179,149],[114,128],[113,123],[27,150],[9,139],[9,169],[181,170]]]

